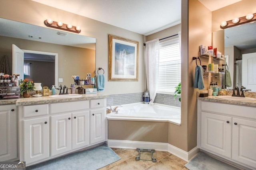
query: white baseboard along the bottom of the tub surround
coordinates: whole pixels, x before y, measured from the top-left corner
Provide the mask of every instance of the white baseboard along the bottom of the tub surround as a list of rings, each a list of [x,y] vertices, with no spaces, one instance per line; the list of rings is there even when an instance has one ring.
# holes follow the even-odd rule
[[[158,143],[158,142],[121,141],[121,140],[108,139],[107,144],[111,148],[124,148],[124,149],[141,148],[141,149],[154,149],[159,151],[167,151],[187,162],[192,157],[194,157],[197,154],[197,152],[199,152],[199,149],[197,147],[190,150],[189,152],[186,152],[182,149],[174,147],[173,145],[170,145],[169,143]]]

